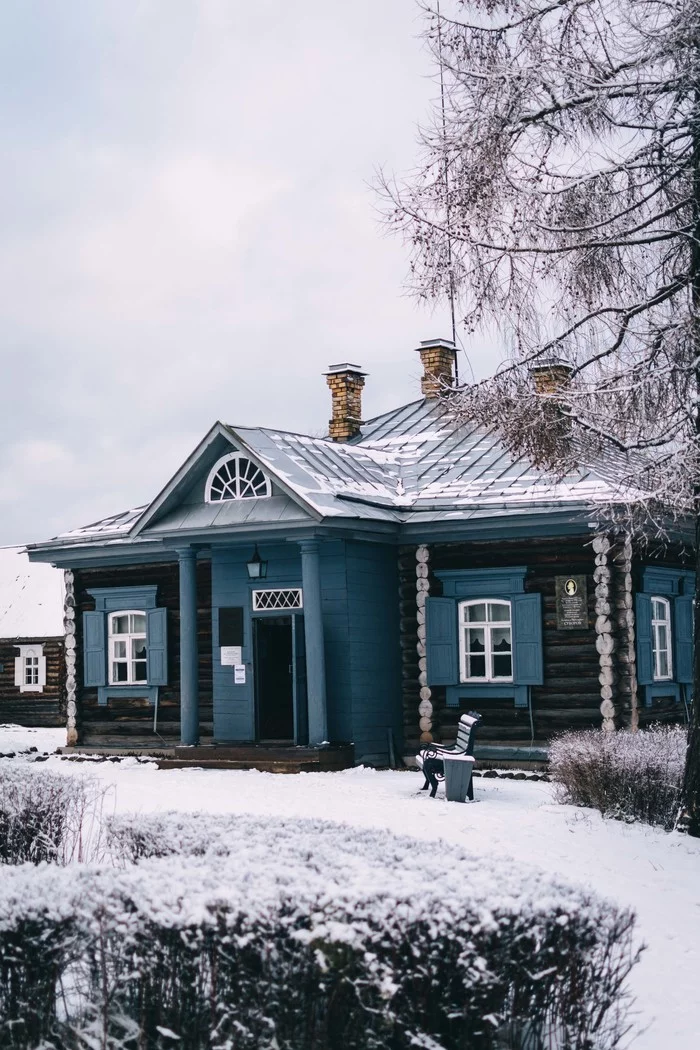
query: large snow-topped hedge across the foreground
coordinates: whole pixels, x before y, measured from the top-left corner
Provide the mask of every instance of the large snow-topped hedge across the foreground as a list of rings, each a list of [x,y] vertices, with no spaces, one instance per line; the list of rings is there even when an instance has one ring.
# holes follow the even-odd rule
[[[129,839],[179,855],[0,883],[0,1047],[616,1045],[633,918],[580,888],[320,821],[114,822]]]

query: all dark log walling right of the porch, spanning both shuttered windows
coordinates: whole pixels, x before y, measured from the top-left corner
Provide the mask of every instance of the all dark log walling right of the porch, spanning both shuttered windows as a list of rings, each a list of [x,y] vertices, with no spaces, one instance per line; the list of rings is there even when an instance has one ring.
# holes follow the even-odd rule
[[[639,697],[635,672],[635,634],[633,591],[638,586],[642,565],[654,562],[682,565],[681,552],[670,546],[642,553],[633,551],[624,538],[610,544],[602,555],[610,566],[610,608],[603,608],[596,587],[601,555],[593,550],[590,533],[574,538],[430,544],[427,565],[428,593],[440,595],[442,585],[436,576],[441,569],[489,569],[513,565],[527,566],[525,589],[538,592],[543,601],[543,646],[545,681],[532,688],[532,723],[527,709],[515,708],[512,699],[494,699],[485,693],[483,701],[469,707],[483,715],[479,742],[503,747],[544,747],[555,733],[565,730],[600,728],[604,720],[607,690],[612,687],[614,714],[612,724],[640,727],[653,721],[683,721],[684,706],[671,698],[655,698],[645,708]],[[596,564],[596,556],[598,564]],[[417,605],[417,547],[400,549],[400,612],[402,653],[402,697],[406,754],[415,754],[421,737],[425,741],[427,718],[421,705],[422,653]],[[588,585],[589,629],[559,631],[556,626],[555,576],[586,575]],[[599,589],[599,588],[598,588]],[[610,621],[614,642],[611,668],[601,667],[596,639]],[[604,680],[603,680],[604,679]],[[423,692],[427,695],[425,686]],[[450,742],[464,708],[448,708],[445,689],[429,687],[431,706],[429,733],[437,741]],[[602,705],[601,705],[602,700]],[[426,705],[423,705],[426,708]],[[606,706],[606,710],[608,707]],[[612,708],[610,709],[612,710]],[[534,731],[534,732],[533,732]]]

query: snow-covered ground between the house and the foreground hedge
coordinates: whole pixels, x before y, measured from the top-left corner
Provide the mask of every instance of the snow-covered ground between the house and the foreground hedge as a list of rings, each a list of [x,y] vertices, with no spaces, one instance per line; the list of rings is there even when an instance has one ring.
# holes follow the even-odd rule
[[[0,727],[0,753],[51,751],[61,730]],[[632,906],[648,945],[633,971],[635,1050],[697,1050],[700,984],[700,841],[642,825],[603,821],[590,810],[557,805],[550,784],[479,779],[479,804],[418,794],[417,773],[161,772],[135,759],[78,763],[50,757],[45,768],[96,776],[119,812],[163,810],[319,817],[386,827],[421,840],[445,839],[484,854],[538,864]],[[420,848],[420,846],[419,846]],[[429,848],[434,849],[433,845]],[[438,860],[439,854],[436,855]]]

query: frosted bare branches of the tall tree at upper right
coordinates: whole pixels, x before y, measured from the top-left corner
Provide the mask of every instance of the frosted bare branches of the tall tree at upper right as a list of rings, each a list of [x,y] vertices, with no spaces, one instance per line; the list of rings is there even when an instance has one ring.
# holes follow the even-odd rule
[[[659,525],[697,509],[700,4],[454,0],[440,54],[423,6],[445,126],[382,180],[386,218],[418,294],[457,288],[466,329],[515,348],[453,411],[560,472],[614,449]],[[573,370],[556,397],[529,375],[549,358]]]

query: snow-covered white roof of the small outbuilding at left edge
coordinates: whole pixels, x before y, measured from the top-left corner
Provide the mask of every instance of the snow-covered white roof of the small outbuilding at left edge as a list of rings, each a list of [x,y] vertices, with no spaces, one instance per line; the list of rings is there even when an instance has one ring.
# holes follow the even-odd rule
[[[0,547],[0,638],[63,635],[63,572]]]

